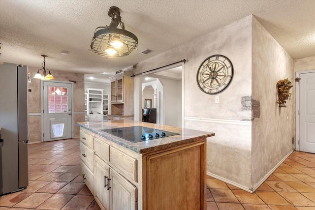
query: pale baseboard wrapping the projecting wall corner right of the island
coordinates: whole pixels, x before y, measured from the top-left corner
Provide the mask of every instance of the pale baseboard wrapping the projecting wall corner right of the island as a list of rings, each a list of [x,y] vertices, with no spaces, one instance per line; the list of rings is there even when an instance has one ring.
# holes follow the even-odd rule
[[[258,189],[258,187],[259,187],[265,180],[268,179],[268,177],[269,177],[274,171],[276,171],[276,169],[284,162],[284,160],[285,160],[293,151],[294,151],[294,150],[291,150],[287,155],[285,155],[285,157],[284,157],[282,160],[280,160],[279,163],[278,163],[275,167],[273,167],[260,181],[258,181],[258,182],[254,185],[254,187],[252,187],[252,189],[249,188],[249,187],[246,187],[246,186],[244,186],[244,185],[238,184],[238,183],[236,183],[236,182],[234,182],[234,181],[227,180],[227,179],[225,179],[225,178],[223,178],[223,177],[220,177],[220,176],[218,176],[218,175],[212,174],[212,173],[210,173],[210,172],[207,172],[207,175],[209,175],[209,176],[211,176],[211,177],[213,177],[213,178],[215,178],[215,179],[217,179],[217,180],[224,181],[225,183],[231,184],[231,185],[233,185],[233,186],[235,186],[235,187],[238,187],[238,188],[240,188],[240,189],[242,189],[242,190],[245,190],[245,191],[247,191],[247,192],[253,193],[253,192],[255,192],[255,191]]]

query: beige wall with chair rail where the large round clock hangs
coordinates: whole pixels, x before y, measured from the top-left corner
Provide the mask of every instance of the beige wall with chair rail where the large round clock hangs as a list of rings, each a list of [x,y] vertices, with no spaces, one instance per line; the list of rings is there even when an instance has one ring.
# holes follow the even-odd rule
[[[215,95],[203,93],[196,82],[200,63],[216,54],[226,56],[234,66],[230,86],[218,94],[220,103],[215,103]],[[241,98],[252,94],[252,16],[144,60],[134,71],[140,73],[183,59],[187,60],[185,127],[216,133],[207,140],[207,171],[251,188],[251,122],[248,120],[252,115],[251,111],[242,111]]]

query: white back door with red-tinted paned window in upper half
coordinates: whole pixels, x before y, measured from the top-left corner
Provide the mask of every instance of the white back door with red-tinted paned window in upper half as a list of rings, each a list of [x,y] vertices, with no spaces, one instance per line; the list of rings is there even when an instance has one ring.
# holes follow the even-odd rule
[[[44,142],[72,138],[72,83],[44,81]]]

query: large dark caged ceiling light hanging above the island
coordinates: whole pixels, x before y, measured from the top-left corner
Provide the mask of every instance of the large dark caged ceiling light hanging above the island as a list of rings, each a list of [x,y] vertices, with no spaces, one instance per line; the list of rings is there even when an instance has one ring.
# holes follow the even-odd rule
[[[91,50],[105,58],[125,57],[137,48],[138,38],[125,30],[125,24],[122,22],[118,7],[110,7],[108,16],[112,18],[111,23],[109,26],[95,29]],[[119,25],[122,29],[117,28]]]

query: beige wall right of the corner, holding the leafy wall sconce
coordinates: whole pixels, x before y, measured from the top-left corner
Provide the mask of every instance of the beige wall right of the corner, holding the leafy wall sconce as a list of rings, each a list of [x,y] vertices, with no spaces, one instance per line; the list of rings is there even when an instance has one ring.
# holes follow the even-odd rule
[[[286,108],[277,101],[276,83],[294,77],[293,59],[253,18],[252,100],[260,103],[260,117],[252,117],[252,186],[255,186],[290,151],[295,138],[295,82]]]

